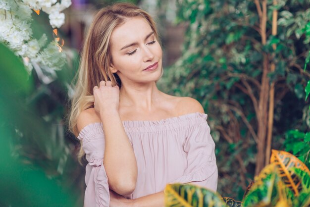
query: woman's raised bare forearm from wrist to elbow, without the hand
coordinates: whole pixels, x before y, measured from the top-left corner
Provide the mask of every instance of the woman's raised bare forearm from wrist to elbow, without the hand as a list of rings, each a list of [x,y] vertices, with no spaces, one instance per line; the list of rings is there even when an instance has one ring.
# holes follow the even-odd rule
[[[103,165],[108,184],[116,193],[130,195],[137,182],[137,162],[132,145],[116,110],[100,114],[103,122],[105,151]]]

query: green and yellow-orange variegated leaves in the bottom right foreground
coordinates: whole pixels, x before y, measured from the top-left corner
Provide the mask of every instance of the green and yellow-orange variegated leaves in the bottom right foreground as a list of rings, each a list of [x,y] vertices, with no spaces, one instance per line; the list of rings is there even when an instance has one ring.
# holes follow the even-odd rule
[[[246,192],[242,202],[192,184],[169,184],[165,189],[166,207],[308,207],[310,171],[294,155],[272,151],[265,166]]]

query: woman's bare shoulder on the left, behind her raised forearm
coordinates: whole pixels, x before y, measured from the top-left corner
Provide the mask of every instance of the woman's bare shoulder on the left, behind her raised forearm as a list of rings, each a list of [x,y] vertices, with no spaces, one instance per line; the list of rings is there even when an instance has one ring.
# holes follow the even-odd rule
[[[101,122],[101,119],[96,113],[95,108],[88,108],[83,110],[78,116],[77,129],[80,132],[84,127],[95,122]]]

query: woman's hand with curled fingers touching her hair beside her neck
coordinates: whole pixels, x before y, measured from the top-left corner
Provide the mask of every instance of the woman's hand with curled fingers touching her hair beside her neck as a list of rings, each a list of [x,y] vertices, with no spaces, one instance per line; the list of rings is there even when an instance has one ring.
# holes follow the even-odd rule
[[[93,90],[95,98],[95,110],[99,113],[109,112],[116,109],[118,111],[119,105],[119,87],[112,87],[111,81],[101,81]]]

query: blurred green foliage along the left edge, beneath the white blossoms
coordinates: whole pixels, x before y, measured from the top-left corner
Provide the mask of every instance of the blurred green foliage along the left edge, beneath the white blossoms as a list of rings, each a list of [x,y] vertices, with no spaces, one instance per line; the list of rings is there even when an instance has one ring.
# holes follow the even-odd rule
[[[77,200],[75,190],[63,183],[59,185],[47,169],[42,169],[43,162],[50,164],[42,152],[53,136],[50,125],[26,102],[35,91],[35,79],[27,73],[22,61],[2,44],[0,53],[0,206],[72,207]],[[19,139],[27,144],[21,147]],[[29,155],[31,164],[23,153]],[[41,166],[33,160],[41,160]]]

